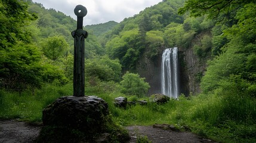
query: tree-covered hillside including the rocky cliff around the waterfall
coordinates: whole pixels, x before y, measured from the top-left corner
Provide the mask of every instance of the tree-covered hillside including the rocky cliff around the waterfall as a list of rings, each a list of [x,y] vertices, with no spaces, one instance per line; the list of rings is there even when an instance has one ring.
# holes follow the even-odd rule
[[[212,48],[211,35],[215,21],[206,16],[179,15],[178,9],[183,4],[184,1],[160,2],[134,17],[125,18],[104,37],[107,55],[118,58],[124,71],[146,77],[152,86],[150,93],[159,92],[161,88],[158,66],[165,48],[177,46],[179,49],[181,93],[186,95],[200,91],[206,61],[211,58],[211,49],[216,48]]]

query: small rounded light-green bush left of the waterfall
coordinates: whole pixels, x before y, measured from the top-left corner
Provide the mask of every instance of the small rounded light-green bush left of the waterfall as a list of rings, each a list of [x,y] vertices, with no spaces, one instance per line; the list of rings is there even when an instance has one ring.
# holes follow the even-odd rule
[[[145,78],[140,77],[135,73],[127,73],[122,77],[120,85],[122,86],[122,92],[127,95],[137,95],[143,97],[147,94],[150,86],[149,83],[145,82]]]

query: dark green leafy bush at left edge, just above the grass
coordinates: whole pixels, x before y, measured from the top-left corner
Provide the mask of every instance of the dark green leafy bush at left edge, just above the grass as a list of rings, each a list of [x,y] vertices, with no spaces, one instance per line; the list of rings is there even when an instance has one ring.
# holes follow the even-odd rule
[[[22,91],[28,86],[41,86],[41,52],[35,45],[18,42],[10,51],[0,52],[1,86],[16,91]]]

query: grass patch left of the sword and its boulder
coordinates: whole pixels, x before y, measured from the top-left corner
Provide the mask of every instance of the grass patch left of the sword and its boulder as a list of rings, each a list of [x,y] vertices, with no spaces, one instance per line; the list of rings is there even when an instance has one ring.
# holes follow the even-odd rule
[[[0,90],[0,119],[39,122],[42,120],[42,109],[64,95],[72,95],[70,85],[60,87],[44,85],[35,93],[29,90],[23,91],[21,94]]]

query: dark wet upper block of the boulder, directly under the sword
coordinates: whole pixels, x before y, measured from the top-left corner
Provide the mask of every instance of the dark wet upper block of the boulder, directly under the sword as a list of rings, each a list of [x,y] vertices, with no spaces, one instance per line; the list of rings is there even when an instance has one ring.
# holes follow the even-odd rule
[[[45,126],[64,126],[85,133],[99,132],[109,114],[107,102],[95,96],[61,97],[43,110]]]

